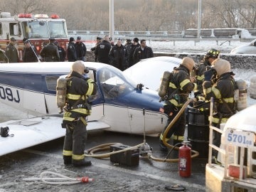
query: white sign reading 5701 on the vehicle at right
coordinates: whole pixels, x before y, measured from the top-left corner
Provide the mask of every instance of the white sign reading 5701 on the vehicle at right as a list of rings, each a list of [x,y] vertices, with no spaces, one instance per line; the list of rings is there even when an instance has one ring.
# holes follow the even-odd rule
[[[253,147],[255,134],[253,132],[242,132],[236,129],[228,128],[225,132],[225,142],[235,146]]]

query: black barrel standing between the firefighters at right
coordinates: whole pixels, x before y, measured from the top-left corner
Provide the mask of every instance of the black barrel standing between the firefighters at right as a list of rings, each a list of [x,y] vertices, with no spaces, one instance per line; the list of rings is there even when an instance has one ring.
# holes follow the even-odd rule
[[[208,116],[196,108],[188,108],[188,141],[191,149],[198,151],[201,158],[208,157],[209,121]]]

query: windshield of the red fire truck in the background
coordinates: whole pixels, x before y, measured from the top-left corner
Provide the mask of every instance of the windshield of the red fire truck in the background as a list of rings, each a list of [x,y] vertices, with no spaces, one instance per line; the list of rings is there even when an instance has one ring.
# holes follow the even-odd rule
[[[21,25],[28,38],[68,38],[63,21],[23,21]]]

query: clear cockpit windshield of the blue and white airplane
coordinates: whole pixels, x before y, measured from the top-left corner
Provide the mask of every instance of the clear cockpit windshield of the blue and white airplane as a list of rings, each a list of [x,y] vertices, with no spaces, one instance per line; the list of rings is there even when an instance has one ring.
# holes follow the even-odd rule
[[[107,68],[100,70],[98,79],[106,98],[122,96],[136,87],[132,80],[127,81],[123,75]]]

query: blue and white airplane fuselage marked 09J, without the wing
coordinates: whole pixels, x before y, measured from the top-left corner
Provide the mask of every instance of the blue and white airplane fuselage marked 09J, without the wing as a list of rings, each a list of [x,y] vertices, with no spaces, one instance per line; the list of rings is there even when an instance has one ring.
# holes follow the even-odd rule
[[[72,63],[6,63],[0,65],[0,101],[34,115],[52,115],[56,105],[56,83],[70,72]],[[102,63],[85,63],[97,82],[88,121],[110,125],[110,131],[131,134],[159,134],[166,115],[159,112],[162,103],[154,90],[137,89],[122,71]]]

